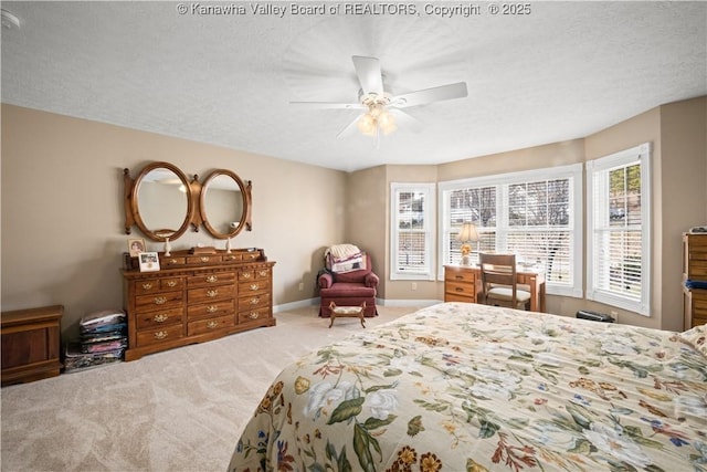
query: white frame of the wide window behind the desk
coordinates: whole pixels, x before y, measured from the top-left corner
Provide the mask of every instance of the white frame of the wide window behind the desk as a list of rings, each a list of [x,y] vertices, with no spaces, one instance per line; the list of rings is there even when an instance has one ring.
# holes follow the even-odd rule
[[[437,243],[437,280],[444,279],[444,264],[449,259],[449,251],[445,242],[452,233],[450,223],[449,196],[454,190],[465,188],[496,187],[496,244],[505,244],[507,234],[511,231],[508,225],[508,187],[516,183],[527,183],[538,180],[553,180],[569,178],[571,182],[570,199],[570,222],[568,231],[571,234],[570,259],[572,261],[572,284],[556,284],[546,281],[546,291],[551,295],[563,295],[581,298],[583,296],[583,258],[582,258],[582,234],[583,234],[583,165],[581,162],[564,166],[549,167],[542,169],[523,170],[517,172],[497,174],[493,176],[474,177],[460,180],[449,180],[439,183],[439,243]],[[483,228],[477,228],[483,232]],[[497,250],[504,250],[504,248]]]

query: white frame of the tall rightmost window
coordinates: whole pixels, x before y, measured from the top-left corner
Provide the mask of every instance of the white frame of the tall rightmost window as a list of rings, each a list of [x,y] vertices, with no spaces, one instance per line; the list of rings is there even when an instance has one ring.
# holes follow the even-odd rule
[[[610,306],[627,310],[643,316],[651,316],[651,143],[621,150],[609,156],[585,162],[587,167],[587,298],[594,302],[604,303]],[[622,296],[615,292],[605,291],[597,286],[597,271],[594,271],[594,254],[599,251],[595,248],[595,232],[610,232],[606,229],[597,229],[594,222],[594,188],[600,185],[597,175],[606,172],[618,167],[627,167],[634,162],[641,167],[641,300],[635,301]],[[606,200],[609,196],[603,196]],[[622,228],[629,228],[626,225]]]

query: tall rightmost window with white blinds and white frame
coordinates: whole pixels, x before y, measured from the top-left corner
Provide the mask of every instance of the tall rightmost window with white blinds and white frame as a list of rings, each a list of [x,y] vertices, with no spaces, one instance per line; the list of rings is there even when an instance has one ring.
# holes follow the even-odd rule
[[[587,297],[650,315],[651,145],[587,162]]]

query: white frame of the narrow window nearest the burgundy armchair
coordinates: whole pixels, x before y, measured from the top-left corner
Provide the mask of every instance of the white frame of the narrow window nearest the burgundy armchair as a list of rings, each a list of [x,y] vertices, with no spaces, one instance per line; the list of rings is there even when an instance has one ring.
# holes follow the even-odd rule
[[[434,281],[434,182],[391,182],[390,183],[390,280],[391,281]],[[398,270],[398,197],[401,192],[422,192],[423,228],[419,230],[425,234],[424,242],[424,270],[422,272],[403,272]]]

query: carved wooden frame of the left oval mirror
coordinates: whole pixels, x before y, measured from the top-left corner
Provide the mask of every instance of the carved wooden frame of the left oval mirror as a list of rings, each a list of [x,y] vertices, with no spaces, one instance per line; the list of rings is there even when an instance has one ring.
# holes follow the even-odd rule
[[[187,211],[184,213],[184,219],[181,225],[179,227],[179,229],[169,235],[169,240],[175,241],[187,231],[187,228],[189,228],[189,223],[191,222],[193,218],[193,212],[194,212],[194,200],[192,196],[191,185],[189,183],[189,180],[187,179],[187,176],[184,175],[184,172],[182,172],[173,164],[156,161],[145,166],[143,170],[140,170],[140,172],[137,175],[135,180],[130,178],[130,174],[128,169],[123,170],[124,180],[125,180],[124,197],[125,197],[125,233],[126,234],[130,234],[131,228],[135,224],[147,238],[149,238],[152,241],[163,242],[167,240],[168,237],[161,234],[160,232],[161,229],[147,228],[147,225],[145,224],[145,221],[143,221],[143,218],[140,217],[139,202],[137,198],[143,179],[150,171],[155,169],[160,169],[160,168],[169,169],[172,172],[175,172],[175,175],[179,177],[179,180],[181,180],[182,185],[184,186],[184,189],[187,190],[186,191]]]

